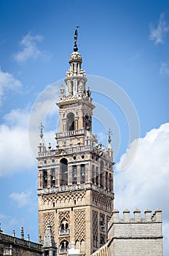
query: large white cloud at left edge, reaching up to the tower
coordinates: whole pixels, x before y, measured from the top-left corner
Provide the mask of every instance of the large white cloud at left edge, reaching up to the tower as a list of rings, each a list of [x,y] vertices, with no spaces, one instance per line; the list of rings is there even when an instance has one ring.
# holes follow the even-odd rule
[[[31,113],[28,109],[15,109],[4,116],[4,124],[0,125],[0,176],[30,171],[36,166],[40,140],[38,127],[41,122],[45,123],[57,97],[58,87],[50,86],[39,95]],[[52,145],[55,147],[54,136],[51,129],[44,133],[47,145],[54,141]]]

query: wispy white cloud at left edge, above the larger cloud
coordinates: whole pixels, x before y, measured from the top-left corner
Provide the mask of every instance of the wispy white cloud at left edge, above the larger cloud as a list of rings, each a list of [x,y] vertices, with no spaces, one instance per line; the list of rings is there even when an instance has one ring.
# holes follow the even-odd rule
[[[0,67],[0,105],[5,92],[20,89],[21,86],[22,84],[19,80],[8,72],[3,72]]]

